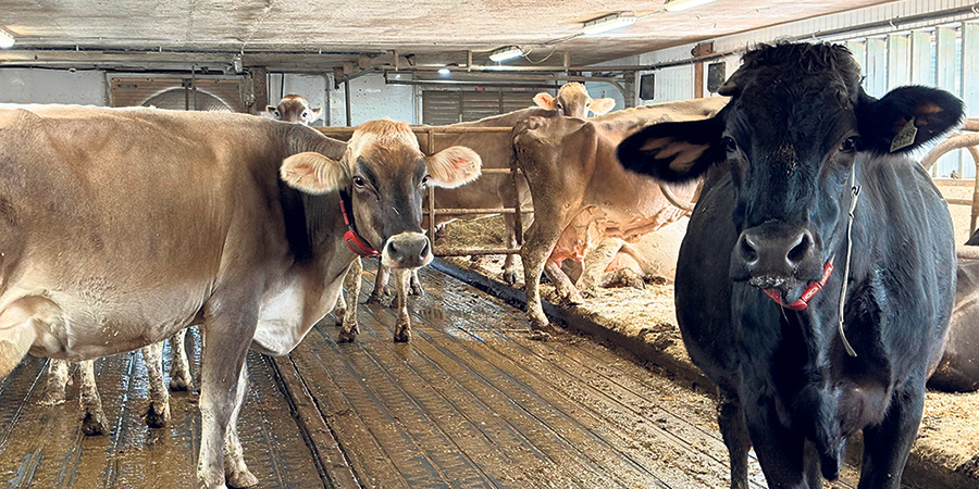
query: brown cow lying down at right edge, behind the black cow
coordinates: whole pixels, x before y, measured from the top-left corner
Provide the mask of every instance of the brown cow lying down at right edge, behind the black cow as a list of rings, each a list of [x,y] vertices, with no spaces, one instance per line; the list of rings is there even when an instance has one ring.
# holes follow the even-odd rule
[[[971,392],[979,389],[979,231],[958,249],[957,275],[945,350],[928,387]]]

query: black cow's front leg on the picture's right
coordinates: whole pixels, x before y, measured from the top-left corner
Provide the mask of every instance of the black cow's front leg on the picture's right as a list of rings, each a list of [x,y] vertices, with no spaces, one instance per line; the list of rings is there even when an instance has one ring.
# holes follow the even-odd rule
[[[925,409],[925,383],[894,392],[888,414],[864,428],[864,462],[858,489],[897,489]]]

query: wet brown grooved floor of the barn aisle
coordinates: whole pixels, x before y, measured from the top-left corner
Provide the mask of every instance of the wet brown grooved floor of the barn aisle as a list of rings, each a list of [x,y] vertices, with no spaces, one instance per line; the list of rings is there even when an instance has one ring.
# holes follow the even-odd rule
[[[394,311],[372,304],[355,343],[337,343],[327,317],[288,358],[249,354],[239,435],[260,487],[728,486],[707,397],[585,338],[533,341],[503,301],[435,271],[422,280],[411,343],[394,343]],[[196,372],[199,336],[188,337]],[[141,356],[96,368],[111,426],[101,437],[80,431],[77,388],[39,404],[44,360],[3,379],[0,486],[194,487],[196,396],[175,393],[170,426],[147,428]],[[764,487],[757,464],[753,487]]]

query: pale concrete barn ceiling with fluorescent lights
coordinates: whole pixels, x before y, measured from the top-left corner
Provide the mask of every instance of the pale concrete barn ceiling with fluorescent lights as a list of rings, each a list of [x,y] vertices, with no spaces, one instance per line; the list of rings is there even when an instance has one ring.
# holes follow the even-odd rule
[[[879,3],[887,1],[717,0],[657,13],[664,0],[2,0],[0,27],[17,45],[0,50],[0,65],[230,63],[244,52],[246,66],[330,70],[358,59],[389,64],[393,50],[420,65],[462,65],[468,50],[487,64],[488,51],[518,45],[533,48],[533,61],[554,52],[546,64],[560,65],[567,52],[585,66]],[[619,11],[641,18],[572,38],[583,22]]]

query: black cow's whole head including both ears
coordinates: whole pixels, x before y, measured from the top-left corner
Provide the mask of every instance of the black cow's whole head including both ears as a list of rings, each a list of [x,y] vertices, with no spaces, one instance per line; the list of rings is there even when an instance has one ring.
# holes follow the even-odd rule
[[[741,234],[731,277],[793,302],[820,279],[840,242],[858,159],[906,152],[940,136],[962,118],[962,102],[926,87],[873,99],[842,46],[763,46],[743,62],[719,90],[732,100],[717,116],[647,127],[625,139],[618,155],[627,168],[667,181],[728,162]]]

